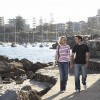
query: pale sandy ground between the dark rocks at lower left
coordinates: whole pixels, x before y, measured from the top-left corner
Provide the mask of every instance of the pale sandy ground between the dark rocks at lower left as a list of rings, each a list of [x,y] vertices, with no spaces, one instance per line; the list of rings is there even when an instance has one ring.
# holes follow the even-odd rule
[[[41,91],[46,88],[46,86],[50,85],[46,82],[38,82],[35,80],[30,81],[29,79],[25,80],[23,84],[16,84],[12,82],[10,84],[0,84],[0,95],[4,94],[7,90],[20,90],[22,87],[29,85],[32,89],[37,91]]]

